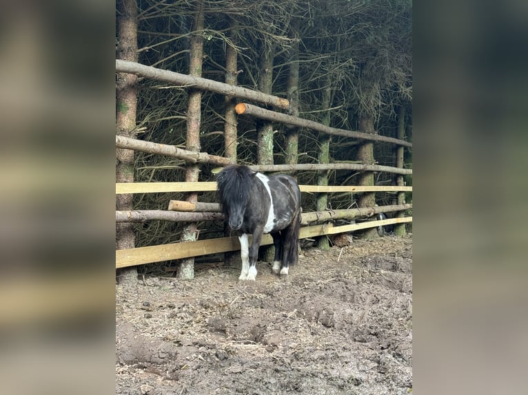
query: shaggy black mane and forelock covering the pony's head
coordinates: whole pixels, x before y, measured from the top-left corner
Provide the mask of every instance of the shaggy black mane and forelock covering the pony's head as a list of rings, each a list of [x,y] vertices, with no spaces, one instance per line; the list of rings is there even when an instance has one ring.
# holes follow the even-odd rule
[[[245,206],[249,202],[252,174],[249,167],[238,164],[227,166],[219,173],[216,182],[224,214],[227,215],[227,207]]]

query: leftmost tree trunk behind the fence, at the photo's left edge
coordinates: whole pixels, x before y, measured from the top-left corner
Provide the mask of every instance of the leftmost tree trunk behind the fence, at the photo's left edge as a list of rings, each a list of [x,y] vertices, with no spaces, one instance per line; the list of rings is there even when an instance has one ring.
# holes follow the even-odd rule
[[[137,6],[136,0],[119,1],[119,43],[117,56],[126,61],[136,62],[137,52]],[[134,137],[137,109],[137,76],[117,74],[116,83],[116,134]],[[134,182],[134,151],[116,149],[116,182]],[[132,210],[134,195],[117,195],[116,210]],[[134,224],[116,224],[116,249],[134,248]],[[123,268],[116,273],[119,283],[134,286],[137,283],[137,269]]]

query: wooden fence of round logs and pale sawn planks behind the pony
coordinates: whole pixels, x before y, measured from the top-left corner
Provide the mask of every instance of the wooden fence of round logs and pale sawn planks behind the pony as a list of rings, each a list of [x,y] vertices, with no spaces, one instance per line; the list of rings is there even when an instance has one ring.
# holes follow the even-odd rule
[[[208,89],[212,92],[224,94],[225,96],[250,98],[258,103],[272,105],[278,109],[288,107],[288,101],[276,96],[262,94],[261,92],[251,91],[251,89],[233,87],[225,83],[210,81],[205,78],[185,76],[167,70],[159,70],[154,67],[139,65],[138,63],[128,61],[116,61],[116,71],[136,74],[146,78],[152,78],[157,81],[166,81],[185,85],[187,87],[199,87]],[[405,140],[378,136],[376,134],[365,134],[358,131],[346,131],[318,124],[317,122],[303,120],[294,116],[281,114],[267,109],[261,109],[254,105],[238,103],[236,105],[238,114],[245,114],[272,120],[274,122],[283,122],[287,125],[298,127],[307,127],[320,133],[346,136],[358,140],[369,140],[373,142],[390,142],[394,145],[403,147],[412,147],[410,142]],[[223,166],[232,161],[221,156],[210,155],[204,152],[193,152],[177,147],[157,144],[155,142],[145,142],[134,140],[124,136],[116,136],[116,147],[122,149],[134,149],[136,151],[146,151],[158,153],[160,155],[172,156],[185,160],[188,163],[207,162]],[[401,156],[403,158],[403,151]],[[282,165],[254,165],[250,166],[254,171],[321,171],[329,169],[350,169],[356,171],[384,171],[398,175],[412,174],[412,169],[403,169],[403,162],[400,167],[387,167],[375,164],[361,163],[333,163],[333,164],[282,164]],[[319,185],[301,185],[302,193],[376,193],[376,192],[398,192],[400,196],[412,191],[412,186],[404,186],[403,182],[398,186],[319,186]],[[216,182],[130,182],[116,183],[116,194],[134,194],[134,193],[166,193],[166,192],[203,192],[215,191]],[[398,201],[400,201],[398,197]],[[169,202],[167,202],[169,204]],[[165,220],[174,222],[202,222],[210,220],[223,220],[223,214],[218,210],[213,210],[214,206],[207,206],[210,211],[200,212],[183,212],[183,211],[161,211],[161,210],[143,210],[143,211],[116,211],[116,222],[145,222],[150,220]],[[385,226],[389,224],[404,224],[412,222],[412,217],[403,217],[403,211],[412,209],[412,204],[396,204],[392,206],[363,207],[358,209],[336,210],[336,211],[319,211],[303,213],[300,238],[317,237],[323,235],[334,235],[337,233],[358,231],[365,228]],[[398,217],[385,220],[367,221],[361,223],[334,226],[333,222],[339,218],[349,220],[355,217],[372,217],[379,213],[397,212]],[[272,237],[264,235],[262,245],[272,244]],[[136,266],[172,259],[184,259],[189,257],[198,257],[201,255],[210,255],[216,253],[225,253],[227,251],[238,250],[240,248],[237,237],[221,237],[217,239],[203,239],[194,242],[179,242],[159,246],[146,246],[140,248],[128,248],[116,250],[116,268],[125,268],[127,266]]]

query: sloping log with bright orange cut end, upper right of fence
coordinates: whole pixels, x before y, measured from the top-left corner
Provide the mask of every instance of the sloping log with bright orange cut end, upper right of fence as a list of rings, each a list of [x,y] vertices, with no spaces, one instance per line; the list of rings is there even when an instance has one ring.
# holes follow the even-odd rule
[[[362,133],[361,131],[350,131],[345,129],[336,129],[335,127],[327,127],[325,125],[321,125],[320,123],[314,122],[313,120],[281,114],[276,111],[270,111],[269,109],[263,109],[261,107],[256,107],[247,103],[238,103],[234,109],[238,115],[245,114],[263,120],[283,122],[287,125],[295,125],[298,127],[306,127],[307,129],[313,129],[320,131],[321,133],[332,134],[334,136],[344,136],[369,141],[391,142],[392,144],[396,145],[412,147],[412,143],[405,140],[398,140],[397,138],[380,136],[378,134]]]

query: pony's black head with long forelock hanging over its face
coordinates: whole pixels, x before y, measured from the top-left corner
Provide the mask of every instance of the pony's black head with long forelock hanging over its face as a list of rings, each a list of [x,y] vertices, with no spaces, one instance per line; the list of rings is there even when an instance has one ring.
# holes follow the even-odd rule
[[[251,197],[253,177],[254,173],[249,167],[232,164],[225,167],[216,178],[222,211],[234,231],[242,227],[245,209]]]

